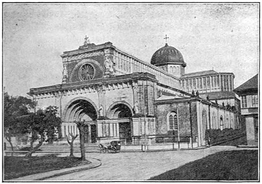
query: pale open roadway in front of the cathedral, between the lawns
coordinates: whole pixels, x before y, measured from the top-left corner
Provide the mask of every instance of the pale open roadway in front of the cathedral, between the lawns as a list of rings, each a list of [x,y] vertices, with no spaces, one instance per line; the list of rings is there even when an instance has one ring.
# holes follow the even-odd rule
[[[206,149],[180,151],[86,153],[87,157],[101,160],[102,166],[52,177],[46,181],[143,181],[219,151],[242,149],[258,148],[211,146]],[[80,153],[75,155],[80,156]]]

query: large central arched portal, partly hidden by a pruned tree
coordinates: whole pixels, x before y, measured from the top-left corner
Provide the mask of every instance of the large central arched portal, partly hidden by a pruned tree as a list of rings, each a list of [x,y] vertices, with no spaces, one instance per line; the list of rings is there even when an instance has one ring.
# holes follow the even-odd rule
[[[74,121],[83,121],[88,122],[88,127],[86,128],[85,133],[85,143],[94,143],[97,139],[97,107],[96,105],[89,99],[78,98],[71,102],[66,107],[64,113],[64,136],[69,133],[79,134],[79,131],[76,127]]]

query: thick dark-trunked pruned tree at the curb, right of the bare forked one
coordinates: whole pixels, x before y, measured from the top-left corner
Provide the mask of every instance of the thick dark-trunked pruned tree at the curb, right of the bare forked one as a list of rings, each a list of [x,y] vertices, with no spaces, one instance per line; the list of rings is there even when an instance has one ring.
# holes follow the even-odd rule
[[[85,120],[81,121],[74,121],[78,130],[79,130],[79,136],[80,136],[80,149],[81,149],[81,159],[82,161],[86,160],[86,152],[85,152],[85,134],[88,133],[88,123],[85,122]]]

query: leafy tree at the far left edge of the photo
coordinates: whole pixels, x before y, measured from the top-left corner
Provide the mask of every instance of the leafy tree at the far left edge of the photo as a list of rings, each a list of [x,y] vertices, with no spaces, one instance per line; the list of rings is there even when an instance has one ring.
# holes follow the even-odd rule
[[[13,144],[12,137],[18,137],[25,132],[21,129],[20,117],[26,117],[30,114],[30,110],[34,109],[36,102],[24,96],[10,96],[4,92],[3,100],[3,127],[4,137],[10,143],[12,154]]]

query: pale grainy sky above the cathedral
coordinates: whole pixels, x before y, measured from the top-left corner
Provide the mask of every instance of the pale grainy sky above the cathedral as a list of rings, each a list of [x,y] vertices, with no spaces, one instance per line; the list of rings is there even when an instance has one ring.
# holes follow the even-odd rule
[[[112,42],[150,62],[174,46],[186,73],[233,72],[234,87],[258,73],[259,4],[4,4],[3,80],[11,95],[60,84],[63,51]]]

